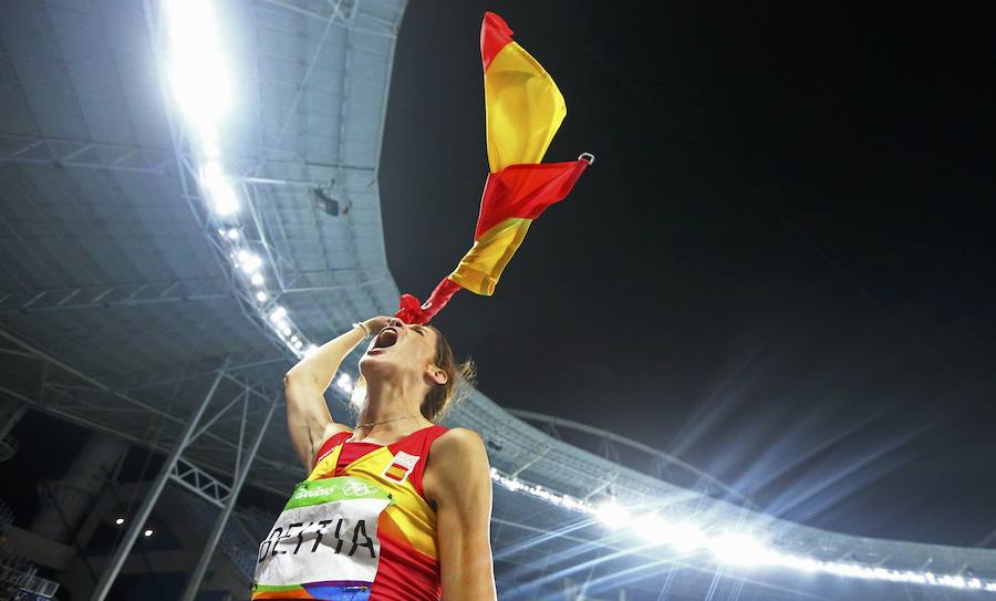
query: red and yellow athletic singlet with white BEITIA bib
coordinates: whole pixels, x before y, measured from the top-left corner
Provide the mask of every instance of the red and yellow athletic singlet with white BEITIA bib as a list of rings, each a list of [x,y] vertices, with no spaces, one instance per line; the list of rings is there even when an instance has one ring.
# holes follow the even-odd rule
[[[331,436],[260,545],[252,599],[438,601],[436,512],[422,490],[447,428],[381,446]]]

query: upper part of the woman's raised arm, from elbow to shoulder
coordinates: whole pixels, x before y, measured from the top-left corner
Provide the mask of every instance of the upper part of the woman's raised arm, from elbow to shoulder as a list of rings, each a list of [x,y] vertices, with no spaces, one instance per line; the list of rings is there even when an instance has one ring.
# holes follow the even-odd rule
[[[317,385],[288,376],[283,381],[287,400],[287,429],[298,459],[310,472],[322,443],[346,426],[336,424],[329,413],[325,397]]]

